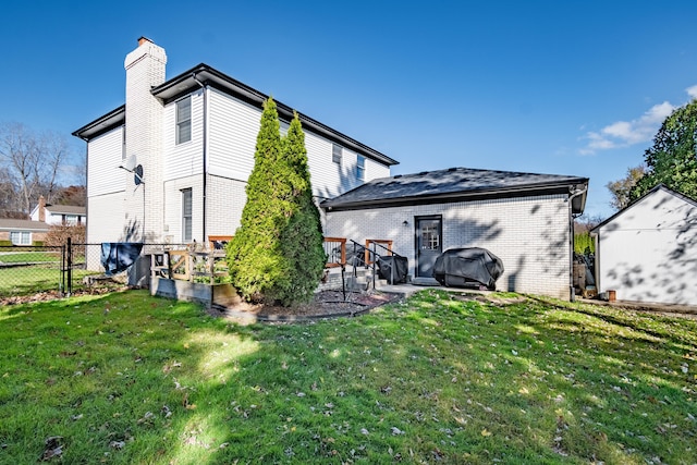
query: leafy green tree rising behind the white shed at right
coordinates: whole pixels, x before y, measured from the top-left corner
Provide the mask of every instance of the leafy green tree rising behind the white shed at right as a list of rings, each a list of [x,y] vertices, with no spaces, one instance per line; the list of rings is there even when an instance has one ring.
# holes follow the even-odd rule
[[[639,198],[659,183],[697,198],[696,145],[697,100],[693,100],[663,121],[653,146],[644,154],[646,175],[632,188],[631,199]]]

